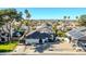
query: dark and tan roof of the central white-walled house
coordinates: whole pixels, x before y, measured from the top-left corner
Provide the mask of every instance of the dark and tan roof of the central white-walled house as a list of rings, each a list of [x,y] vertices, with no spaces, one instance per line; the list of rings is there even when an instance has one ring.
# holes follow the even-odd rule
[[[38,28],[32,33],[29,33],[26,38],[33,38],[33,39],[45,39],[45,38],[50,38],[51,35],[53,35],[53,31],[51,28],[48,28],[48,27],[41,27],[41,28]]]

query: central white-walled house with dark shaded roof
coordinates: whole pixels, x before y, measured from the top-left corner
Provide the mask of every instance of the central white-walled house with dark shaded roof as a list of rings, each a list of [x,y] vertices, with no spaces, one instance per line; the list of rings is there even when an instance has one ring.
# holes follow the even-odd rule
[[[36,30],[27,34],[25,37],[25,43],[42,43],[53,41],[54,34],[47,25],[45,27],[37,28]]]

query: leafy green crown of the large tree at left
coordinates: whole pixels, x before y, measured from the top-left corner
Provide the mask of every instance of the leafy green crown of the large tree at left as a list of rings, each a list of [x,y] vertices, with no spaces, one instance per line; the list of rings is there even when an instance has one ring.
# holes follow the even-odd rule
[[[16,9],[4,9],[0,10],[0,25],[3,25],[8,22],[13,22],[13,20],[21,20],[22,12],[17,13]]]

